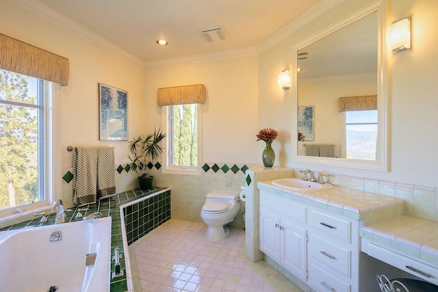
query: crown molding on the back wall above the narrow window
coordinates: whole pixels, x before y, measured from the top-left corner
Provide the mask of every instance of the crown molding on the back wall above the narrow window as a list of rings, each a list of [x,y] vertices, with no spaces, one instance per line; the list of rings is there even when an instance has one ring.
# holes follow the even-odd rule
[[[226,51],[218,51],[214,53],[205,53],[197,55],[188,55],[182,57],[173,57],[167,59],[157,59],[153,61],[146,61],[146,69],[179,66],[186,64],[196,64],[201,62],[209,62],[218,59],[231,59],[234,57],[245,57],[250,55],[257,55],[255,47],[246,47],[242,49],[232,49]]]

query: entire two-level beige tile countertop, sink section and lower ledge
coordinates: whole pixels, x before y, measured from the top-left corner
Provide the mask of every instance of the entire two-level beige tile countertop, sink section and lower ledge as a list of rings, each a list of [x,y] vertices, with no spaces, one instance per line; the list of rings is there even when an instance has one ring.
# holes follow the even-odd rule
[[[359,230],[361,238],[438,266],[438,222],[405,215],[402,199],[337,186],[300,193],[276,187],[270,181],[259,182],[257,186],[312,207],[364,220],[364,226]]]

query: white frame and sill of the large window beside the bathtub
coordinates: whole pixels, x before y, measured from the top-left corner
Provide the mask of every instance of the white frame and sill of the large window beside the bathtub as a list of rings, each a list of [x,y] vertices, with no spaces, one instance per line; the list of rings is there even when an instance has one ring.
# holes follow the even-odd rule
[[[0,69],[2,70],[2,69]],[[62,198],[61,153],[60,153],[60,98],[62,86],[50,81],[42,81],[44,89],[44,191],[45,198],[38,202],[23,204],[19,207],[0,209],[0,226],[8,226],[33,218],[31,215],[51,209],[51,202]],[[38,168],[40,171],[40,168]],[[39,195],[39,194],[38,194]],[[18,211],[18,212],[17,212]],[[3,220],[2,220],[3,218]]]

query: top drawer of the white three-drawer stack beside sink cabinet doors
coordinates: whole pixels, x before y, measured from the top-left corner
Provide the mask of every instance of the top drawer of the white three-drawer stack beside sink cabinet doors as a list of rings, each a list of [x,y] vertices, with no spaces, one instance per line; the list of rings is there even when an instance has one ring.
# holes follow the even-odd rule
[[[342,241],[350,242],[351,223],[318,211],[311,212],[311,226],[316,230],[337,237]]]

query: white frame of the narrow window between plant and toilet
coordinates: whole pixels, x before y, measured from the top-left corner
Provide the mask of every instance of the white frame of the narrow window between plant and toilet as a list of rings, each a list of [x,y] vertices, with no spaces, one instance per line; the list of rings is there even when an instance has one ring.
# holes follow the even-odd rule
[[[197,111],[197,133],[198,133],[198,165],[196,166],[176,166],[176,165],[170,165],[170,138],[171,138],[171,129],[170,129],[170,107],[171,106],[164,106],[162,107],[162,129],[166,129],[166,149],[164,150],[165,155],[164,156],[164,167],[162,168],[162,174],[183,174],[183,175],[201,175],[202,168],[202,105],[196,104],[196,111]]]

